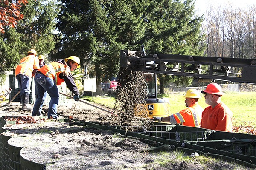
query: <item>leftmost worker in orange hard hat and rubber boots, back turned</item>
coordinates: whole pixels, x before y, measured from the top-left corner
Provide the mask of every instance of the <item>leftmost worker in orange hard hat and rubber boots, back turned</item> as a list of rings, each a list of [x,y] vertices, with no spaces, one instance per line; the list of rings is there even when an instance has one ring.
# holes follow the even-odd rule
[[[16,79],[20,89],[22,99],[22,110],[32,110],[29,106],[29,94],[31,92],[30,85],[32,77],[35,72],[40,68],[39,60],[36,57],[37,53],[35,49],[30,49],[28,55],[20,60],[15,70]]]

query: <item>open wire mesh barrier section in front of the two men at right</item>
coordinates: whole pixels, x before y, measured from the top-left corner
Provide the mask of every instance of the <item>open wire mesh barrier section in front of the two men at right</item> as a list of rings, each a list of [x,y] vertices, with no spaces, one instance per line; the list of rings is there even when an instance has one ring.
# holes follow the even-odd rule
[[[196,144],[247,156],[256,156],[256,136],[254,135],[227,133],[179,125],[120,126],[119,128],[120,130],[129,130],[157,138]]]

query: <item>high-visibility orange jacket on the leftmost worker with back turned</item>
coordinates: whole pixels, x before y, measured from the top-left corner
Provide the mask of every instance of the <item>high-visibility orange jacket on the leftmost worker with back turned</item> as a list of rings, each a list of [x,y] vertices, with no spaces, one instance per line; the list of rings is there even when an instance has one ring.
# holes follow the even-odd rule
[[[20,63],[16,67],[15,75],[23,74],[32,77],[33,70],[39,68],[39,59],[34,55],[28,55],[20,60]]]

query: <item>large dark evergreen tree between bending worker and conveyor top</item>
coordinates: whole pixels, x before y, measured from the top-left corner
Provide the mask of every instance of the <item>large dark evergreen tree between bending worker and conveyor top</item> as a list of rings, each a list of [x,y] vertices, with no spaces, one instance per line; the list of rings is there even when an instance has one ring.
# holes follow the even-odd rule
[[[115,77],[119,70],[119,51],[140,49],[145,32],[140,4],[135,0],[62,0],[61,39],[52,57],[80,57],[84,68],[90,68],[89,75],[96,76],[99,92],[102,79]]]

